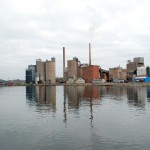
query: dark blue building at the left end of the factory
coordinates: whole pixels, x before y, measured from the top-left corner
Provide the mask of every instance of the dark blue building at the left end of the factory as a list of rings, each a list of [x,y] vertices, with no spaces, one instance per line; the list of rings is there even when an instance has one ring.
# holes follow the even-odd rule
[[[36,66],[29,65],[26,69],[26,83],[35,83]]]

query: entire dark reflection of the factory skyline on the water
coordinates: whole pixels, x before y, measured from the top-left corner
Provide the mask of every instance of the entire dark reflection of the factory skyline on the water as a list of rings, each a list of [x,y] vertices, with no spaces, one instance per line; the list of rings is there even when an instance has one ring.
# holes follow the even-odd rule
[[[57,93],[56,93],[57,89]],[[60,91],[59,91],[60,90]],[[56,94],[59,99],[56,99]],[[145,109],[146,102],[150,102],[150,88],[146,87],[119,87],[119,86],[29,86],[26,87],[28,106],[37,111],[50,111],[56,113],[63,111],[63,121],[71,114],[80,117],[80,108],[88,112],[90,124],[94,119],[93,110],[105,101],[125,101],[130,107]],[[57,100],[57,105],[56,105]],[[63,110],[62,110],[63,109]]]

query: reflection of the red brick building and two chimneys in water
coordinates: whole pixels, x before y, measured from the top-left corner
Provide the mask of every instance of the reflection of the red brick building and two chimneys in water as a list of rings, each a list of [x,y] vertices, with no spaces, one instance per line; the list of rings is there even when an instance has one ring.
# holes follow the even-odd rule
[[[64,86],[64,122],[67,122],[67,102],[69,110],[78,110],[80,106],[90,108],[91,126],[93,121],[93,105],[100,100],[99,86]],[[76,112],[76,111],[75,111]]]

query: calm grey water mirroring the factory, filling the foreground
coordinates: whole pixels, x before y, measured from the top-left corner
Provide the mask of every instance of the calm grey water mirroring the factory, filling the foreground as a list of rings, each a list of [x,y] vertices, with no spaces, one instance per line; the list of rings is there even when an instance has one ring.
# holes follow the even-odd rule
[[[0,150],[149,150],[150,88],[0,87]]]

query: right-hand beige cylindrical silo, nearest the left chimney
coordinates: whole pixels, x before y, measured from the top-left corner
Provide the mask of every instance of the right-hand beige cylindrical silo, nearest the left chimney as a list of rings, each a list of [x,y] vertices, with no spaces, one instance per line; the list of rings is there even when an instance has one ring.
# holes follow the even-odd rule
[[[54,57],[51,58],[51,61],[46,60],[45,69],[46,69],[46,83],[47,84],[56,83],[56,69]]]

